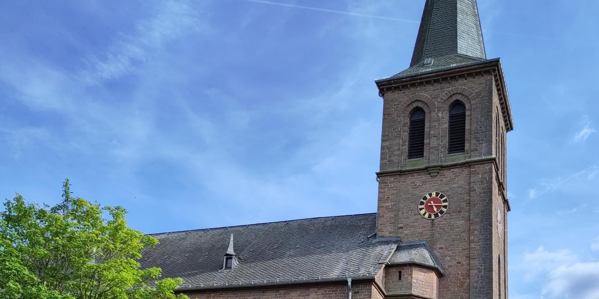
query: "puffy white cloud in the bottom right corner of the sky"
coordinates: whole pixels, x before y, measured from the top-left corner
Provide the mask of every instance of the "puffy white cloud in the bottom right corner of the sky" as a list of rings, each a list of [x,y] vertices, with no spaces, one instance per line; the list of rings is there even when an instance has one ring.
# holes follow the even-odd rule
[[[560,266],[550,271],[543,294],[552,298],[599,298],[599,262]]]

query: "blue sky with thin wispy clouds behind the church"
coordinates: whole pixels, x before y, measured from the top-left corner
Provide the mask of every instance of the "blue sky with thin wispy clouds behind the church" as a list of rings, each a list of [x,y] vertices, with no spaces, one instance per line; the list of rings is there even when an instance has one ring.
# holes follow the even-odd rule
[[[382,100],[424,0],[11,2],[0,196],[145,233],[376,211]],[[501,57],[512,299],[599,298],[599,2],[479,0]]]

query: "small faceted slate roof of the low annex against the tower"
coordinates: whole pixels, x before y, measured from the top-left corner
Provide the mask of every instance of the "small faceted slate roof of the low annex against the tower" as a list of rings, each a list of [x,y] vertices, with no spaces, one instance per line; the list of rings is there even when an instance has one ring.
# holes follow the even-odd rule
[[[389,264],[419,264],[445,274],[443,265],[426,241],[403,242],[389,258]]]

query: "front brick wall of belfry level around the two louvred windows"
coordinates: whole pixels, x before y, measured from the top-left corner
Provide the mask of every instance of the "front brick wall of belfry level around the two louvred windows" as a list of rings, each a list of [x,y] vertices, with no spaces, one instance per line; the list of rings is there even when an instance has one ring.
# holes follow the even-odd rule
[[[455,160],[447,154],[449,106],[460,100],[466,106],[465,158],[492,155],[494,77],[489,72],[478,77],[459,77],[443,83],[392,91],[383,99],[383,130],[380,171],[425,166]],[[425,157],[407,159],[409,115],[413,108],[426,112]],[[459,155],[458,155],[459,156]]]

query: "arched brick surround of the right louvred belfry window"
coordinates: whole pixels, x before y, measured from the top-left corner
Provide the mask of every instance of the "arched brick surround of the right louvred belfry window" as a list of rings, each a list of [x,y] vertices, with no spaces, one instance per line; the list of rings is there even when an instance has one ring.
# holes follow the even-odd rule
[[[463,89],[463,87],[456,87],[455,89]],[[467,90],[467,89],[464,89]],[[447,94],[444,93],[444,95]],[[474,95],[470,91],[470,94]],[[446,157],[447,154],[463,154],[466,157],[470,155],[470,144],[471,144],[471,114],[472,114],[472,98],[463,93],[452,93],[447,97],[441,97],[442,108],[441,108],[441,140],[439,142],[441,147],[441,154]],[[463,120],[463,149],[459,151],[450,151],[450,110],[456,105],[464,105],[464,120]]]

